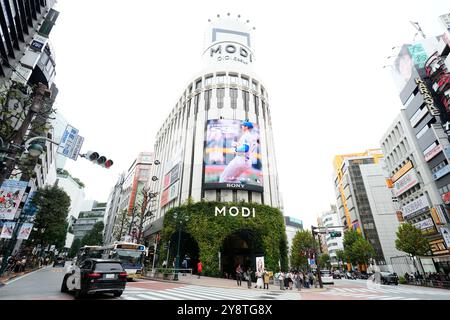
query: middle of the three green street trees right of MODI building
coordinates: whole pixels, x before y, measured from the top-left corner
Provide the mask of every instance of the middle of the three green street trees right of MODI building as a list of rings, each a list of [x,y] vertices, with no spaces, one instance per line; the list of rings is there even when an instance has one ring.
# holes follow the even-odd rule
[[[367,264],[375,256],[375,249],[355,230],[344,234],[344,256],[347,262],[354,265]]]

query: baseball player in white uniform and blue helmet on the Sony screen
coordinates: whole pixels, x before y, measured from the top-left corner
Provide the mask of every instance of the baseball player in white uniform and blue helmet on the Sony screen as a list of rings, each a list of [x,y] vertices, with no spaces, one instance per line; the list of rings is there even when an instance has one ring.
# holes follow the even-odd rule
[[[251,159],[251,156],[256,152],[257,148],[257,139],[252,133],[253,124],[249,121],[244,121],[241,128],[243,134],[239,142],[232,143],[235,157],[223,170],[219,182],[241,182],[239,177],[252,167],[254,159]]]

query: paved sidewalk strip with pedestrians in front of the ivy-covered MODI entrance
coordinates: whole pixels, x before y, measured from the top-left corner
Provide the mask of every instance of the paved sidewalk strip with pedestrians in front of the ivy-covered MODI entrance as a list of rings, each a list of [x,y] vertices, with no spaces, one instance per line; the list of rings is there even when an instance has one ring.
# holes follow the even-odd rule
[[[206,277],[201,276],[200,279],[197,278],[196,275],[186,275],[178,277],[179,280],[164,280],[160,278],[152,278],[149,276],[143,276],[141,279],[146,280],[153,280],[153,281],[160,281],[160,282],[168,282],[168,283],[178,283],[178,284],[186,284],[186,285],[196,285],[196,286],[205,286],[205,287],[215,287],[215,288],[226,288],[226,289],[241,289],[241,290],[250,290],[247,287],[247,282],[242,281],[242,286],[238,286],[236,280],[232,279],[224,279],[224,278],[213,278],[213,277]],[[320,288],[312,288],[312,289],[306,289],[302,288],[301,291],[298,291],[297,288],[293,287],[292,290],[280,290],[279,285],[275,284],[269,284],[269,289],[256,289],[255,288],[256,283],[252,282],[252,288],[253,290],[260,290],[260,291],[270,291],[270,292],[299,292],[299,293],[308,293],[308,292],[323,292],[326,291],[326,288],[320,289]]]

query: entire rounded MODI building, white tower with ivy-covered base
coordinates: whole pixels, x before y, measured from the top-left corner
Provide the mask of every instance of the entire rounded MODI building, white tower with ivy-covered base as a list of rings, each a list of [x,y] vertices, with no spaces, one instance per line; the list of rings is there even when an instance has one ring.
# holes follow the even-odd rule
[[[240,16],[209,20],[203,70],[157,132],[144,236],[155,266],[234,275],[256,261],[287,267],[267,91],[254,73],[254,28]],[[155,161],[156,161],[155,160]]]

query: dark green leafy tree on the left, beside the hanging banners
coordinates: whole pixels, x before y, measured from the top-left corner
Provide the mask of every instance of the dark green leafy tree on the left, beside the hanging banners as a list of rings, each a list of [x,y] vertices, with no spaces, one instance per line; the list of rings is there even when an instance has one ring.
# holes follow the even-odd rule
[[[70,197],[56,185],[39,188],[32,203],[37,208],[34,228],[30,239],[44,246],[55,245],[58,250],[65,244],[67,214]],[[33,229],[34,229],[33,228]]]

